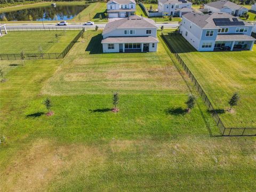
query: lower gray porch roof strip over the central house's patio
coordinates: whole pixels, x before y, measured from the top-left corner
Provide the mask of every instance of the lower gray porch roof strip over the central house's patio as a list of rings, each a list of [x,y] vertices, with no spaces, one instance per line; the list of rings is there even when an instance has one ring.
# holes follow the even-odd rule
[[[107,37],[102,39],[101,43],[158,43],[158,40],[152,36]]]

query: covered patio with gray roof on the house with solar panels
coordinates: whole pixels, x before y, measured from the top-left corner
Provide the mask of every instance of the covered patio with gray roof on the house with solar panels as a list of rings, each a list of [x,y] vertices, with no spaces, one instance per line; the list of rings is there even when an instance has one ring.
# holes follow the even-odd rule
[[[252,50],[255,40],[255,38],[244,34],[218,35],[214,51]]]

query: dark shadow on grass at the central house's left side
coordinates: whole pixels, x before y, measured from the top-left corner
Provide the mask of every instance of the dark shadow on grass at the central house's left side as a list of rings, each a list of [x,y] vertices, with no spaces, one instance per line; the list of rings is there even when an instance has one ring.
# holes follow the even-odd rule
[[[87,45],[85,51],[89,51],[90,52],[89,54],[101,54],[101,53],[103,53],[101,40],[102,40],[102,35],[101,34],[93,36],[91,38],[89,44]]]

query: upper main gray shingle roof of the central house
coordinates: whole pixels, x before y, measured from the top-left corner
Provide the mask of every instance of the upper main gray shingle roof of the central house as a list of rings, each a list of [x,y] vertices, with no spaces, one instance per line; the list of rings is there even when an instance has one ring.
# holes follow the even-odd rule
[[[157,28],[156,23],[152,19],[132,15],[128,18],[119,19],[108,22],[102,34],[108,34],[116,29],[143,29],[143,28]]]

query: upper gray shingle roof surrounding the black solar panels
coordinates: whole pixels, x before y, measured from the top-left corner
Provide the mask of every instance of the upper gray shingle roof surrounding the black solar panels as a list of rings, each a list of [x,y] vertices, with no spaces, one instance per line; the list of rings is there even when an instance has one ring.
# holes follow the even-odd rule
[[[216,26],[213,19],[217,18],[229,18],[232,21],[234,17],[228,13],[209,13],[209,14],[198,14],[198,13],[186,13],[182,17],[188,19],[189,21],[195,23],[198,27],[202,29],[219,29],[220,27]],[[243,21],[242,19],[237,18],[238,21]],[[244,22],[244,26],[252,26],[251,23]]]

